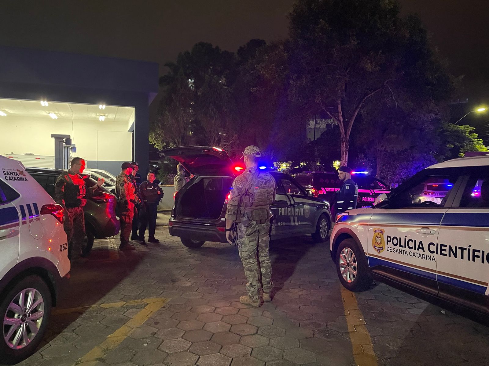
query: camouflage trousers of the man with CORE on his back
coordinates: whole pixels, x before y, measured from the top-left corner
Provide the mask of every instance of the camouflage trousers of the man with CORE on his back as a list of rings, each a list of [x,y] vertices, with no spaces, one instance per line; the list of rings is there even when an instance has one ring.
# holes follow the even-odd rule
[[[248,283],[246,291],[253,302],[259,300],[259,292],[269,293],[273,287],[272,266],[268,255],[270,221],[249,226],[238,224],[238,250]]]

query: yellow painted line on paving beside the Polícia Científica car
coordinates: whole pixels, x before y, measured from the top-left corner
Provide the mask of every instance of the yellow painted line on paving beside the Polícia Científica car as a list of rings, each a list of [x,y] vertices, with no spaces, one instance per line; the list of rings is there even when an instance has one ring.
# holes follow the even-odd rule
[[[346,325],[353,348],[353,357],[358,366],[378,366],[372,338],[358,308],[355,293],[341,286],[341,297],[345,307]]]

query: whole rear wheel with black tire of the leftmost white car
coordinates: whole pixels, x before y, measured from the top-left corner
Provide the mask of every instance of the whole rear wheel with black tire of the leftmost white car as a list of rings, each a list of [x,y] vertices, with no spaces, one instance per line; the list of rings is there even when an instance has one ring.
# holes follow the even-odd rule
[[[33,298],[33,301],[30,302],[31,306],[38,305],[32,307],[31,312],[28,312],[28,309],[21,309],[19,306],[21,297],[25,299],[24,304],[29,305],[29,297],[31,296]],[[0,304],[0,319],[2,322],[0,364],[14,365],[34,353],[43,340],[49,322],[52,305],[51,296],[49,287],[37,275],[24,277],[17,284],[13,285],[5,296],[2,295]],[[41,316],[38,318],[39,315]],[[14,320],[18,320],[19,322],[11,325],[10,323]],[[24,338],[23,329],[29,332],[27,334],[27,340]],[[37,330],[37,333],[35,333],[35,330]],[[12,334],[9,334],[11,331]],[[8,341],[5,339],[7,337]],[[19,345],[22,345],[22,347],[14,349],[14,343],[17,343],[17,347]]]

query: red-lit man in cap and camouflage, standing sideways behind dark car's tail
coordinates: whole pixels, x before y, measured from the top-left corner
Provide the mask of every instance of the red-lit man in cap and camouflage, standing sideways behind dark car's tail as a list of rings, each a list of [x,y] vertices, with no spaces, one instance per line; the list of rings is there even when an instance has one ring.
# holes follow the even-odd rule
[[[131,180],[131,173],[133,172],[133,166],[131,163],[122,163],[122,171],[117,176],[115,181],[115,194],[118,198],[117,205],[119,206],[120,222],[121,222],[121,244],[119,249],[121,250],[134,250],[136,247],[129,243],[129,235],[133,228],[134,217],[134,184]]]

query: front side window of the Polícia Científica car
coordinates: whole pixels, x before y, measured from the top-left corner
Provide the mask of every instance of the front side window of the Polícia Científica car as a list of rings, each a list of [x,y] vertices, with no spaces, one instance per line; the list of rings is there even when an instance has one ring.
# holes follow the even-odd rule
[[[389,208],[445,207],[448,194],[458,176],[420,176],[401,185],[396,194],[389,198]]]

